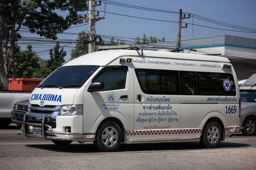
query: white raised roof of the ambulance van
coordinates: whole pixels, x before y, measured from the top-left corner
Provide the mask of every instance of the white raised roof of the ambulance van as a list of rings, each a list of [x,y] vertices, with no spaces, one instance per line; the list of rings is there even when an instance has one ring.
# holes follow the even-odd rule
[[[108,65],[111,61],[122,56],[136,56],[141,57],[138,50],[107,50],[107,51],[96,51],[90,54],[85,54],[81,57],[67,62],[63,66],[69,65]],[[225,57],[200,55],[200,54],[185,54],[175,53],[168,51],[143,51],[143,57],[160,57],[160,58],[173,58],[173,59],[192,59],[192,60],[204,60],[204,61],[215,61],[215,62],[230,62]]]

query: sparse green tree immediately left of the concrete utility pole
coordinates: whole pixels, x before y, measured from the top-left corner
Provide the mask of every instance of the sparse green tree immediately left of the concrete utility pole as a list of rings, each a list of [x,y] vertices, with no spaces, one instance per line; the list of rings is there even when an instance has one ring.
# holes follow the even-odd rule
[[[84,43],[89,41],[90,36],[85,31],[81,31],[76,38],[76,47],[75,49],[71,50],[71,57],[70,60],[80,57],[84,54],[88,53],[88,43]]]

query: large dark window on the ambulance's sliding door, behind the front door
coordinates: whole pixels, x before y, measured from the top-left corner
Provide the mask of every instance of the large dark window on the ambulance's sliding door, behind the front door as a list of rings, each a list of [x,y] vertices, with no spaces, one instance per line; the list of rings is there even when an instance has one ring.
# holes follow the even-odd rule
[[[136,68],[135,72],[143,93],[180,95],[178,71]]]

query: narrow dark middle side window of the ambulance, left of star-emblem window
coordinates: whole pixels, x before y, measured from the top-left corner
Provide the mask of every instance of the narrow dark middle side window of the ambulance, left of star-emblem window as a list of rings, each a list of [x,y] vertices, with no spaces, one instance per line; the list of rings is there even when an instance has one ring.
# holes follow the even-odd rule
[[[197,82],[194,71],[180,71],[181,95],[197,95]]]

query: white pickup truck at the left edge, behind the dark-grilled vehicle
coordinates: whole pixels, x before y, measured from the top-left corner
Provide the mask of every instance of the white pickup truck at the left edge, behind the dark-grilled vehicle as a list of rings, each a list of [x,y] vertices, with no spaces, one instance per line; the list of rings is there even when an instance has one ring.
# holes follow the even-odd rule
[[[31,91],[0,90],[0,127],[12,123],[11,112],[16,102],[28,100]]]

